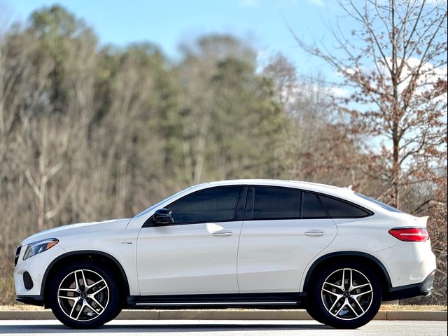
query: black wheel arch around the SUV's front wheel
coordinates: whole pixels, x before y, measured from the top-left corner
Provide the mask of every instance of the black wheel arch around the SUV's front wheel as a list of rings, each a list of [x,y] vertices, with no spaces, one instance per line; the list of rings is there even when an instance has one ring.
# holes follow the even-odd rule
[[[52,275],[57,272],[59,265],[65,265],[67,262],[82,262],[82,261],[93,261],[93,262],[101,262],[100,265],[106,265],[113,274],[118,275],[118,281],[120,281],[120,288],[124,288],[125,290],[120,293],[122,297],[123,304],[126,302],[126,298],[130,295],[129,282],[127,281],[127,276],[125,269],[120,264],[120,262],[110,255],[109,253],[102,251],[94,251],[94,250],[83,250],[83,251],[73,251],[67,252],[62,255],[59,255],[55,260],[50,262],[47,269],[45,269],[45,273],[43,274],[42,283],[41,283],[41,296],[43,297],[45,307],[48,307],[48,286],[50,284],[49,279],[51,279]]]

